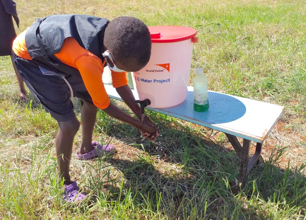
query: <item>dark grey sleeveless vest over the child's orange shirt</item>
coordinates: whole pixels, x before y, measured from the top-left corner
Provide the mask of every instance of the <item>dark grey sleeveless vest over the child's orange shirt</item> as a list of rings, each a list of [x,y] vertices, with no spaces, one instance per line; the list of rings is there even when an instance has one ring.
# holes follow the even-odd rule
[[[50,15],[37,19],[27,30],[27,51],[37,65],[66,74],[78,73],[72,66],[54,56],[60,52],[64,40],[73,37],[84,49],[102,61],[104,31],[108,20],[88,15]]]

